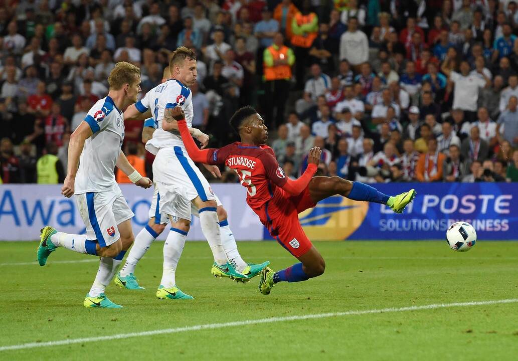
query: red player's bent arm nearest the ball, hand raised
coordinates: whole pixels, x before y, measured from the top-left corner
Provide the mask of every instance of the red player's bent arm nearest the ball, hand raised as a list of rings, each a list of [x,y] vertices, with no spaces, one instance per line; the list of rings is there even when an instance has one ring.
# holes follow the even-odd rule
[[[309,150],[308,167],[306,168],[304,174],[296,180],[291,180],[290,178],[287,178],[284,175],[284,173],[280,170],[280,167],[277,164],[277,162],[275,162],[275,165],[277,165],[277,167],[275,167],[275,165],[271,166],[265,164],[266,177],[272,182],[274,182],[277,186],[281,187],[287,193],[294,196],[299,195],[302,191],[306,189],[309,182],[311,181],[311,178],[313,178],[313,176],[315,175],[316,169],[318,168],[320,162],[321,154],[322,151],[319,147],[313,147]],[[275,161],[273,157],[272,160]],[[280,177],[279,173],[282,175],[282,177]]]

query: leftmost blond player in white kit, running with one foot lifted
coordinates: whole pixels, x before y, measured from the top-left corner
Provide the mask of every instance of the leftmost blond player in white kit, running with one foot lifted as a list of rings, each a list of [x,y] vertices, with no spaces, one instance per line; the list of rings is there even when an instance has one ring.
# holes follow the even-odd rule
[[[112,69],[108,83],[108,96],[95,103],[70,136],[68,170],[62,187],[65,197],[76,195],[87,234],[72,235],[46,226],[41,230],[37,250],[40,266],[47,263],[48,256],[57,247],[100,256],[95,281],[83,301],[85,307],[94,308],[122,307],[110,301],[104,292],[134,240],[130,221],[134,214],[115,181],[114,168],[117,166],[138,186],[152,185],[121,150],[124,117],[120,109],[136,101],[140,92],[140,69],[119,62]]]

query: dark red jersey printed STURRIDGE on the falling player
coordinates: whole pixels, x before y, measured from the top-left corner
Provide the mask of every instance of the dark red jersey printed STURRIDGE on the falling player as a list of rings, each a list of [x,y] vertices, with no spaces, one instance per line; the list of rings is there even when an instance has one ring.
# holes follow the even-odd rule
[[[286,184],[284,171],[277,163],[274,150],[268,146],[248,146],[241,142],[220,149],[211,149],[208,164],[225,164],[236,171],[241,185],[247,188],[247,203],[262,219],[271,199],[283,198],[280,188]],[[277,208],[272,205],[272,208]],[[275,209],[271,209],[270,213]]]

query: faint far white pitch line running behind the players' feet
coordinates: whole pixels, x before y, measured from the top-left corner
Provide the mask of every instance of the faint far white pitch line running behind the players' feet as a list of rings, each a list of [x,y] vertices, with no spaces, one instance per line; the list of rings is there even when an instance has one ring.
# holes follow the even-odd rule
[[[266,257],[268,259],[292,259],[292,256],[273,256]],[[367,256],[325,256],[325,259],[428,259],[430,261],[455,261],[458,262],[472,260],[472,261],[484,261],[484,260],[507,260],[507,261],[518,261],[518,257],[421,257],[421,256],[379,256],[379,257],[367,257]],[[162,256],[145,256],[143,259],[162,259]],[[183,256],[182,259],[212,259],[211,256]],[[98,257],[88,258],[88,259],[77,259],[77,260],[66,260],[66,261],[50,261],[51,264],[66,264],[66,263],[89,263],[89,262],[99,262]],[[36,261],[34,262],[18,262],[18,263],[0,263],[0,267],[2,266],[33,266],[37,265]]]

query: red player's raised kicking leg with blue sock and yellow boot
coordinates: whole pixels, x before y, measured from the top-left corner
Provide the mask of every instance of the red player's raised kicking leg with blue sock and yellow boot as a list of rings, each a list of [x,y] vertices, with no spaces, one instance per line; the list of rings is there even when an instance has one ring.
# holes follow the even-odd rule
[[[415,198],[414,189],[396,196],[388,196],[368,184],[351,182],[338,176],[314,177],[309,183],[309,193],[315,203],[339,194],[353,200],[386,204],[396,213],[402,213]]]

